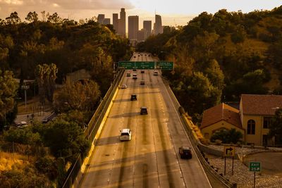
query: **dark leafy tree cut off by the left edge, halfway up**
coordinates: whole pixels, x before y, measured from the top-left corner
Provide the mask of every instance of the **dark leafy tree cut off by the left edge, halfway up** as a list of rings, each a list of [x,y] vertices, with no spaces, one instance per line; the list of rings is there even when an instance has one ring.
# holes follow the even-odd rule
[[[18,84],[11,71],[0,70],[0,118],[6,124],[6,114],[13,111]]]

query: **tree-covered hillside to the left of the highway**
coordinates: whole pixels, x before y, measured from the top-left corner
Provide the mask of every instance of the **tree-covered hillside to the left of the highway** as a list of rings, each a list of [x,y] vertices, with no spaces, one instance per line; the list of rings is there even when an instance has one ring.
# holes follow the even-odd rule
[[[41,18],[30,12],[22,21],[13,12],[0,19],[2,186],[62,187],[68,168],[90,149],[84,129],[114,80],[114,62],[131,54],[128,39],[94,19],[76,22],[44,11]],[[65,83],[68,73],[81,69],[90,80]],[[32,126],[2,131],[13,124],[17,103],[25,99],[24,80],[35,82],[27,96],[39,96],[40,104],[51,104],[59,115],[49,123],[32,120]]]

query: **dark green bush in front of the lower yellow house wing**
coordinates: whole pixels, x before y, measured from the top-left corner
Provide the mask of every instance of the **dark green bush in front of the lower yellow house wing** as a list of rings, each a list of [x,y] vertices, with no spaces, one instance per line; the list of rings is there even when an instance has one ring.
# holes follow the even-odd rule
[[[231,130],[222,129],[212,134],[211,142],[215,142],[216,139],[219,139],[223,144],[237,144],[242,138],[243,134],[238,130],[233,128]]]

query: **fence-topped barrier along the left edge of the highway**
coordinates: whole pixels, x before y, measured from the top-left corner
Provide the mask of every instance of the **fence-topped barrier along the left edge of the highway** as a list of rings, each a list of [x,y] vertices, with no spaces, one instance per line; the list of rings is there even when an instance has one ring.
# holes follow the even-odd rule
[[[109,88],[108,92],[106,92],[104,98],[101,100],[101,103],[99,104],[97,110],[95,111],[90,122],[88,123],[87,128],[85,129],[85,137],[86,139],[89,139],[90,142],[94,141],[95,135],[97,134],[99,126],[101,125],[104,115],[106,113],[105,109],[109,107],[109,104],[113,99],[114,92],[116,91],[116,88],[118,87],[118,84],[123,77],[123,73],[124,70],[118,70],[114,82],[111,84],[111,87]],[[75,181],[78,173],[80,172],[80,168],[82,166],[84,158],[85,156],[82,156],[82,153],[78,154],[78,158],[75,160],[75,163],[71,165],[71,168],[69,168],[67,172],[67,177],[62,187],[69,188],[73,186],[73,182]]]

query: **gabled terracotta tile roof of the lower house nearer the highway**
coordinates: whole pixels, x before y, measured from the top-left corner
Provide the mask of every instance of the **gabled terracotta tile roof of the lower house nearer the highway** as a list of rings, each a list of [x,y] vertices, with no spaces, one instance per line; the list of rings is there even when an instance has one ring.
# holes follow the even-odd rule
[[[243,129],[240,121],[239,111],[227,104],[219,104],[204,111],[201,129],[213,125],[221,120],[225,120],[236,127]]]

